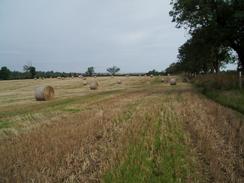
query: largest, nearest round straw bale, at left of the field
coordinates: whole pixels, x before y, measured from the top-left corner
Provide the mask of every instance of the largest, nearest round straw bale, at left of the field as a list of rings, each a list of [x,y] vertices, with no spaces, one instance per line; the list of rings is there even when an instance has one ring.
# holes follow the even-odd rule
[[[54,89],[51,86],[39,86],[35,90],[37,101],[51,100],[54,97]]]

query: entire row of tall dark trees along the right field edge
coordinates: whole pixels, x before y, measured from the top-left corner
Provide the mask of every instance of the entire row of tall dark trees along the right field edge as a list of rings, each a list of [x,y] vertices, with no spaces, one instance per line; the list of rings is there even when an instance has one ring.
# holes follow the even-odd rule
[[[244,70],[243,0],[171,0],[171,5],[172,22],[187,29],[190,39],[166,72],[218,73],[236,60]]]

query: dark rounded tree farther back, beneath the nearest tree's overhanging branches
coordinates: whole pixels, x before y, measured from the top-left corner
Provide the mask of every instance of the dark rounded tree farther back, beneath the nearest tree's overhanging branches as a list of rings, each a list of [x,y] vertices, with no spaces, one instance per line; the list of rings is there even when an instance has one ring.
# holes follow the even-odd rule
[[[202,34],[193,34],[193,37],[179,48],[180,65],[177,65],[177,68],[172,65],[169,69],[181,70],[188,74],[218,73],[221,67],[234,61],[230,48],[203,37]]]

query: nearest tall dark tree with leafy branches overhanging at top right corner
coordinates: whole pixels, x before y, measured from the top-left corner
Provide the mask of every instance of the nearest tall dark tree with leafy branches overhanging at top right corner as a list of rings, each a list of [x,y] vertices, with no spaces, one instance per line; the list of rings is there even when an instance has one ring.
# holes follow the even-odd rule
[[[207,29],[205,39],[215,40],[222,47],[231,47],[244,68],[244,1],[243,0],[171,0],[172,21],[189,33]]]

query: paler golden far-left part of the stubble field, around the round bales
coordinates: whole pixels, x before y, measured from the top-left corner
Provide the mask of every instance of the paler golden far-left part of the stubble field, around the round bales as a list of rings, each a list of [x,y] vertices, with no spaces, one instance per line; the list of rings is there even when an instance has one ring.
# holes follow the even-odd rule
[[[95,80],[88,78],[86,81]],[[113,94],[120,93],[128,86],[137,87],[147,82],[146,78],[97,78],[100,86],[96,91],[91,91],[89,86],[83,85],[82,79],[45,79],[45,80],[14,80],[1,81],[0,87],[0,129],[12,128],[19,130],[47,122],[52,118],[79,112],[81,107],[89,100],[103,99]],[[127,80],[121,85],[118,80]],[[50,85],[55,89],[55,99],[48,102],[37,102],[34,90],[41,85]],[[8,133],[8,130],[4,130]],[[1,132],[0,132],[1,133]]]

